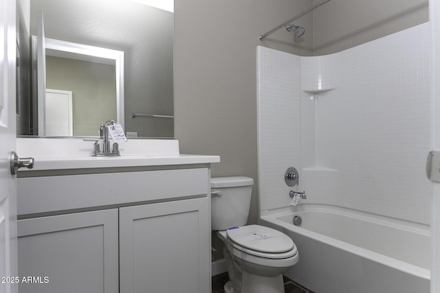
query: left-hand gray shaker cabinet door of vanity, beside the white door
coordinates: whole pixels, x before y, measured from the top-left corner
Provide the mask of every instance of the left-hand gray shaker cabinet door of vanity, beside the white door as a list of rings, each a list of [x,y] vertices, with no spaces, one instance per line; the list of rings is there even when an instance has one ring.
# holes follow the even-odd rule
[[[18,232],[19,292],[118,292],[118,209],[19,220]]]

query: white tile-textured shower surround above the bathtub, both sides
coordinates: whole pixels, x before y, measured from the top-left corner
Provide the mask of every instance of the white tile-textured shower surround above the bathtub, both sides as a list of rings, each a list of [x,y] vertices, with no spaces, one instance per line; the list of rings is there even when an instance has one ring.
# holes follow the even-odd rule
[[[429,224],[429,42],[425,23],[327,56],[258,47],[260,211],[294,189]],[[284,182],[291,166],[299,187]]]

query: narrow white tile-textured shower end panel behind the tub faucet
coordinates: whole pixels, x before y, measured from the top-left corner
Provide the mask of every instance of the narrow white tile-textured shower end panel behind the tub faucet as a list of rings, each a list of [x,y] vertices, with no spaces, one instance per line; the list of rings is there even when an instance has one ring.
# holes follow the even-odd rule
[[[259,116],[259,207],[290,202],[288,167],[300,171],[300,57],[257,47]]]

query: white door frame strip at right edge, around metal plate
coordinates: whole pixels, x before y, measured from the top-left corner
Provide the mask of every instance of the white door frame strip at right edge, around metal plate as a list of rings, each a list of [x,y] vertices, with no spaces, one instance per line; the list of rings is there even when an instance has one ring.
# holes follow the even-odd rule
[[[440,3],[429,1],[432,37],[432,149],[440,150]],[[435,162],[434,162],[435,163]],[[434,183],[432,197],[432,269],[431,293],[440,292],[440,183]]]

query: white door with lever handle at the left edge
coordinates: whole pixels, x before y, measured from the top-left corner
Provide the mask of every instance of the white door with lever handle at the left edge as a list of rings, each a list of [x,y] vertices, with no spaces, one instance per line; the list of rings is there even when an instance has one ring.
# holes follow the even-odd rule
[[[17,185],[10,171],[15,151],[15,0],[0,0],[0,292],[18,292]],[[9,277],[9,279],[8,279]],[[4,279],[3,279],[4,278]]]

